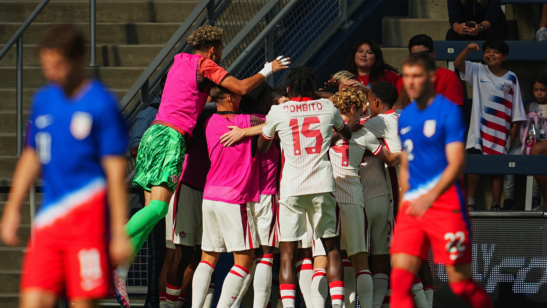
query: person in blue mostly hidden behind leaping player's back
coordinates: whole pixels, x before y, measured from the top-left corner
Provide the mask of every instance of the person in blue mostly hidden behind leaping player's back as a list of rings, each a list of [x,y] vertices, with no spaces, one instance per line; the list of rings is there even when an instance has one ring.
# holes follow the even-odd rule
[[[156,97],[143,111],[139,112],[135,117],[135,120],[133,120],[133,130],[131,132],[131,139],[129,140],[129,149],[131,149],[129,150],[129,154],[133,158],[137,157],[138,146],[141,144],[142,135],[144,135],[144,132],[152,126],[152,121],[156,119],[158,108],[160,107],[161,93],[164,91],[166,79],[167,73],[165,73],[164,76],[161,76],[160,93],[158,93],[158,97]]]

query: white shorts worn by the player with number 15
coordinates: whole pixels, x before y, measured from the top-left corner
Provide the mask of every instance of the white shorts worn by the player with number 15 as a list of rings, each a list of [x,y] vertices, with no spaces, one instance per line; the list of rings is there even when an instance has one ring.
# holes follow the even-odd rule
[[[306,213],[313,238],[340,235],[340,210],[330,192],[286,197],[279,200],[278,241],[295,242],[307,235]]]

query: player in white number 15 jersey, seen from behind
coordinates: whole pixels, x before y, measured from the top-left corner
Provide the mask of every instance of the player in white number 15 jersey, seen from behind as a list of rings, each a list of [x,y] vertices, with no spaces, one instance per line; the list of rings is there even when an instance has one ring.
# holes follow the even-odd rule
[[[276,133],[281,140],[282,170],[278,235],[281,248],[280,292],[284,308],[294,308],[294,271],[298,241],[306,236],[306,213],[313,237],[327,250],[330,294],[334,308],[344,305],[344,267],[340,256],[340,216],[328,150],[333,128],[350,139],[351,130],[327,99],[314,99],[317,76],[308,67],[287,74],[293,98],[272,106],[266,116],[258,149],[269,149]]]

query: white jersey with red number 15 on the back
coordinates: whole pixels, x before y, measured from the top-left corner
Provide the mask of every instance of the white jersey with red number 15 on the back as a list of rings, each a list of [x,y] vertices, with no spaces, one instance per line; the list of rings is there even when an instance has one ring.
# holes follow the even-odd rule
[[[280,198],[335,191],[328,158],[333,128],[344,127],[340,112],[328,99],[294,98],[274,105],[262,135],[279,135],[282,147]]]

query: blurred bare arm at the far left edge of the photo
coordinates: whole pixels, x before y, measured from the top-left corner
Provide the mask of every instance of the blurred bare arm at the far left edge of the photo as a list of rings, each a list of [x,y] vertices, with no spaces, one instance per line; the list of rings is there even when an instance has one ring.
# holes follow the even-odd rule
[[[40,162],[36,150],[33,147],[26,147],[25,153],[19,158],[15,167],[8,202],[4,206],[4,213],[0,221],[0,238],[8,246],[19,244],[17,230],[21,222],[21,204],[28,193],[28,187],[39,172]]]

